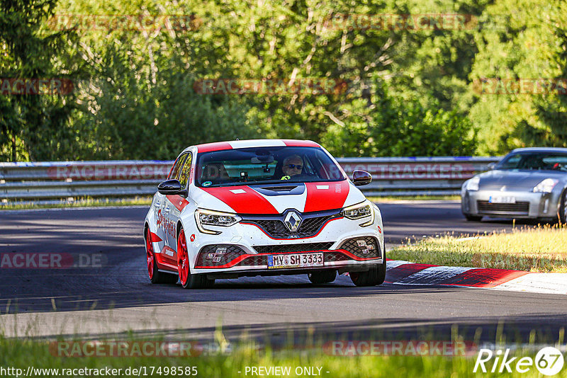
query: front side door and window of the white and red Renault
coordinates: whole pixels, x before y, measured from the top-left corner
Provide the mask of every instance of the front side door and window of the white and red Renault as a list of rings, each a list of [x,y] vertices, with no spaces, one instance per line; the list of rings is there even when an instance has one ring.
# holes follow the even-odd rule
[[[188,188],[189,186],[189,178],[191,177],[191,167],[193,163],[192,158],[193,155],[191,154],[191,152],[186,154],[186,159],[184,160],[183,165],[179,168],[179,173],[176,177],[174,177],[179,180],[179,183],[181,183],[181,188]],[[174,251],[174,256],[172,256],[172,258],[176,263],[177,222],[179,222],[181,211],[189,202],[185,197],[181,195],[167,195],[165,198],[165,203],[165,212],[167,214],[168,223],[172,227],[172,232],[169,232],[167,234],[167,246],[172,251]]]

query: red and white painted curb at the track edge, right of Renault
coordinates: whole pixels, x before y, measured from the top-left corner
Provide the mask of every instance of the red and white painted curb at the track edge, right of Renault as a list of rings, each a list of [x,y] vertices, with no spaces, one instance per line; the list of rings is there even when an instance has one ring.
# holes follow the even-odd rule
[[[482,287],[515,292],[567,294],[567,273],[461,268],[388,260],[386,282],[403,285]]]

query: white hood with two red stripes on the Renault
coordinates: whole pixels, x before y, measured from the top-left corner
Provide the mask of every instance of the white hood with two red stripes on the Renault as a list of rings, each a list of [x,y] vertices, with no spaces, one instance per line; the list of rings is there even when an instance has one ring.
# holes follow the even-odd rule
[[[316,212],[340,209],[364,201],[347,180],[323,183],[276,183],[217,188],[193,188],[197,206],[237,214],[281,214],[284,210]]]

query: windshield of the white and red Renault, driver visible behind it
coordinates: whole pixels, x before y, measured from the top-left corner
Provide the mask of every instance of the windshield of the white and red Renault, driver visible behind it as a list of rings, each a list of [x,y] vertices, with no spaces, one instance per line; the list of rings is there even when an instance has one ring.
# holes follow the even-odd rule
[[[340,168],[318,147],[253,147],[198,155],[196,185],[342,181]]]

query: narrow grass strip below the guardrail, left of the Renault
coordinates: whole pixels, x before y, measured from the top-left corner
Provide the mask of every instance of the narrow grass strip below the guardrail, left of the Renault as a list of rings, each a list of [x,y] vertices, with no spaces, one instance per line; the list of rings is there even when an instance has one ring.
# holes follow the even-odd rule
[[[135,198],[85,198],[74,201],[61,202],[5,202],[0,203],[0,210],[27,210],[27,209],[56,209],[66,207],[107,207],[107,206],[135,206],[152,203],[152,197]]]

